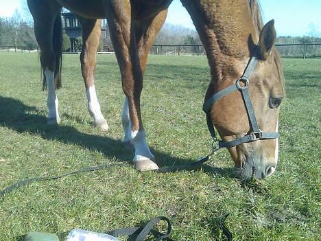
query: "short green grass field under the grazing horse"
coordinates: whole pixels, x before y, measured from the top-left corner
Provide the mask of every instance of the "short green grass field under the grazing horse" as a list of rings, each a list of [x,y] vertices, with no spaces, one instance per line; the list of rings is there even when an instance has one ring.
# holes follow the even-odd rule
[[[270,178],[246,185],[230,175],[227,150],[200,170],[134,170],[133,152],[121,145],[117,61],[97,60],[95,85],[108,133],[93,127],[78,56],[64,56],[62,123],[53,127],[46,125],[38,55],[0,53],[0,190],[33,176],[112,164],[6,195],[0,200],[1,241],[21,240],[29,231],[107,231],[155,216],[171,219],[174,240],[225,240],[215,218],[226,212],[234,240],[320,240],[321,60],[283,60],[287,99],[281,106],[278,168]],[[202,113],[209,80],[204,56],[150,56],[141,105],[147,142],[160,166],[189,164],[209,152]]]

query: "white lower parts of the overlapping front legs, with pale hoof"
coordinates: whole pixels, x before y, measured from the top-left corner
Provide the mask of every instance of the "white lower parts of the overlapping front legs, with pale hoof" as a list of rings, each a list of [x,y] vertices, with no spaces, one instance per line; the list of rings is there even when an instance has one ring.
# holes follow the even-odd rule
[[[156,170],[158,165],[154,163],[155,157],[147,145],[145,131],[132,131],[132,123],[130,122],[128,100],[125,97],[123,102],[123,113],[121,115],[123,123],[123,143],[132,144],[135,149],[133,163],[140,171]]]

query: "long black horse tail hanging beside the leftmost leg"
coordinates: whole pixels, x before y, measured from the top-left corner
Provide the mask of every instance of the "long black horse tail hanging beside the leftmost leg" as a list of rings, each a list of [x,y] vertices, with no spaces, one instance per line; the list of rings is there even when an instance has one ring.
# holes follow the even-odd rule
[[[60,12],[53,23],[52,36],[53,52],[55,54],[55,87],[61,88],[61,68],[62,68],[62,21]],[[43,78],[43,90],[47,89],[47,81]]]

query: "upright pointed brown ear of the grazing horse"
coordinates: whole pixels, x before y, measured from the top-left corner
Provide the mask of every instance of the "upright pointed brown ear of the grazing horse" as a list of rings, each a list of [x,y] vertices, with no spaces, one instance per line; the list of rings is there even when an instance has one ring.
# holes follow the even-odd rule
[[[268,58],[276,39],[274,20],[266,23],[261,31],[259,39],[260,56],[263,60]]]

